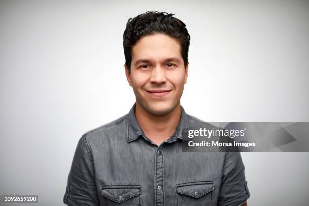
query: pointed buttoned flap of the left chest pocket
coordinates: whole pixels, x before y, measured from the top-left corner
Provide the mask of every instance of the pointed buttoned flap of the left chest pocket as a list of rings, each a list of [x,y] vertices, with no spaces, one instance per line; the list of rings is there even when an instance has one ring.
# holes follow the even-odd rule
[[[138,185],[104,186],[102,195],[114,202],[124,202],[140,194]]]

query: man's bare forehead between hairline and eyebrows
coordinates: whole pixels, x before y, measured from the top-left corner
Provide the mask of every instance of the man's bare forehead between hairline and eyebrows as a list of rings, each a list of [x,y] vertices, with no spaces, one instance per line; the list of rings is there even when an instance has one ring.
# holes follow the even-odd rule
[[[180,43],[165,34],[144,36],[132,48],[132,62],[139,58],[166,59],[181,57]]]

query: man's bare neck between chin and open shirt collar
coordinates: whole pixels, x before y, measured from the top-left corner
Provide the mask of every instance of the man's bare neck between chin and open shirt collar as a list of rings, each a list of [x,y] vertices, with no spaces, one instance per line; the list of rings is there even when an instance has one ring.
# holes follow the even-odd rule
[[[160,145],[170,138],[176,130],[181,116],[180,102],[171,112],[165,115],[151,114],[136,102],[135,116],[147,138]]]

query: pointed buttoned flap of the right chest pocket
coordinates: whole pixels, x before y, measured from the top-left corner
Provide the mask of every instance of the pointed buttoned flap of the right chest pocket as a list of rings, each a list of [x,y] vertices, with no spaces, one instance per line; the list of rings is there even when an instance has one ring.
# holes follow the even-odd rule
[[[180,194],[188,195],[198,199],[199,197],[214,190],[214,183],[213,181],[202,181],[177,184],[176,190]]]

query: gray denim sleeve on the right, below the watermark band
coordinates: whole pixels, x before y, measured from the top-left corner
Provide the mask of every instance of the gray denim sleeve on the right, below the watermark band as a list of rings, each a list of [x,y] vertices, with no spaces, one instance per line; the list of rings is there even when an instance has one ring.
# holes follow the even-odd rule
[[[218,206],[238,206],[250,197],[240,152],[227,152],[223,166]]]

